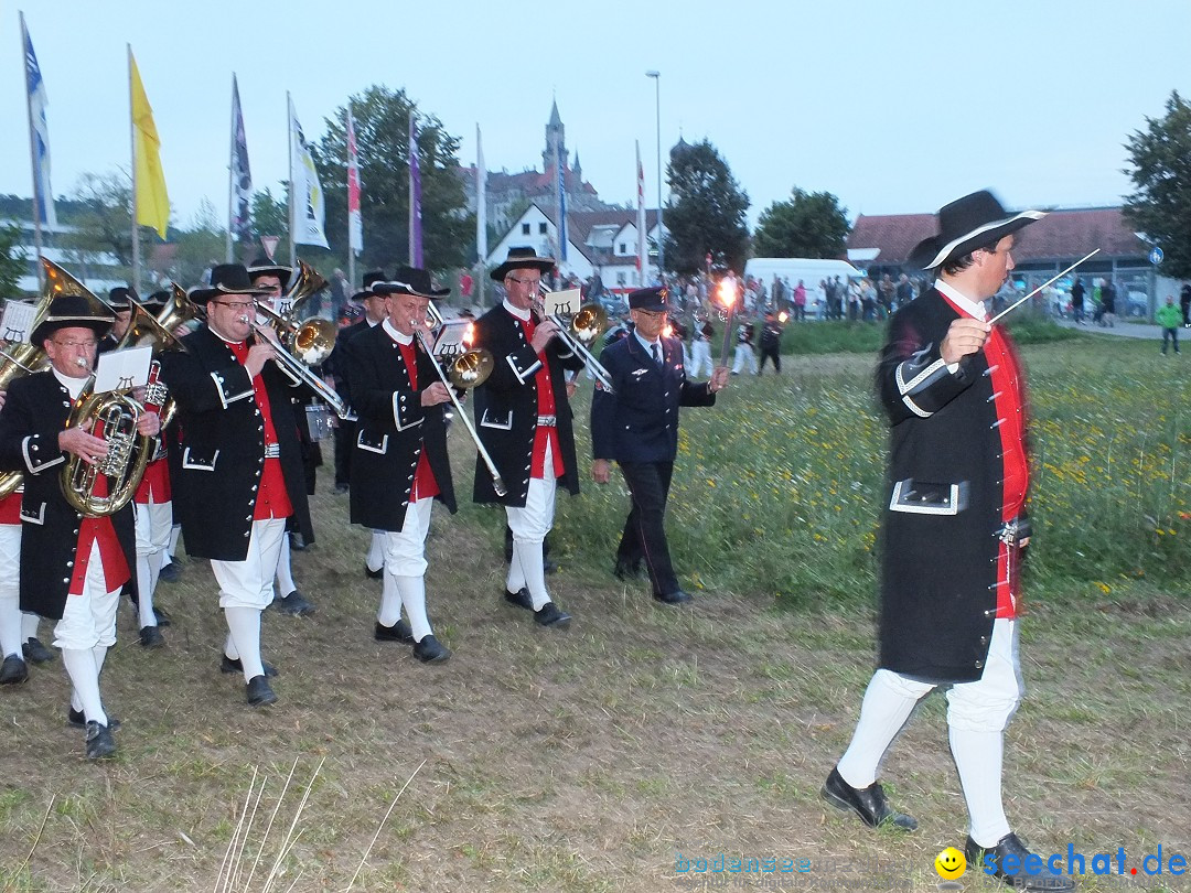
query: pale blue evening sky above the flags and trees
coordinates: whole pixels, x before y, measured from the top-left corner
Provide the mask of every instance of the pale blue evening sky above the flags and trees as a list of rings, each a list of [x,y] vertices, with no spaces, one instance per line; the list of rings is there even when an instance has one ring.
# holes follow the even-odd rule
[[[461,137],[463,166],[479,125],[490,170],[541,166],[557,101],[605,201],[635,200],[641,142],[650,206],[660,106],[663,155],[680,135],[710,139],[750,224],[796,186],[834,193],[849,219],[985,187],[1015,208],[1120,204],[1123,143],[1171,90],[1191,94],[1189,0],[24,0],[0,4],[0,193],[19,195],[18,8],[49,94],[55,194],[127,169],[131,44],[182,226],[204,200],[226,218],[233,71],[257,189],[287,176],[286,90],[317,139],[348,96],[384,83]]]

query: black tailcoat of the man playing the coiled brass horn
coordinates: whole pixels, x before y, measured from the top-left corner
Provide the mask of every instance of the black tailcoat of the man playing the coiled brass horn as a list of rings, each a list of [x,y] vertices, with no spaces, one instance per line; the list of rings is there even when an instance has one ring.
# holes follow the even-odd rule
[[[0,411],[0,467],[23,472],[20,520],[20,610],[61,619],[74,575],[79,514],[62,495],[60,477],[69,454],[58,433],[70,416],[70,394],[52,371],[17,379]],[[136,523],[132,502],[112,516],[112,526],[132,574],[136,598]]]

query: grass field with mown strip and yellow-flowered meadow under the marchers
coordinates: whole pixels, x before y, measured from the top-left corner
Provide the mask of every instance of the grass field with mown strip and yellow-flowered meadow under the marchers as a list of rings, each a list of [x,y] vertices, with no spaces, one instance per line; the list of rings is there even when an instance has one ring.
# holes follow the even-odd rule
[[[1191,855],[1191,366],[1108,338],[1024,352],[1036,541],[1010,819],[1045,854]],[[455,651],[441,667],[373,641],[367,536],[320,474],[318,543],[295,555],[318,614],[266,617],[276,706],[250,711],[219,674],[225,627],[199,562],[158,591],[164,650],[143,651],[121,610],[104,674],[124,723],[113,761],[81,757],[61,661],[0,691],[0,889],[692,889],[675,867],[719,854],[810,860],[768,887],[732,879],[757,889],[881,888],[874,863],[890,889],[935,889],[935,855],[966,832],[940,697],[884,769],[918,833],[874,833],[818,799],[873,664],[871,376],[868,355],[786,357],[782,377],[732,379],[684,416],[669,531],[690,608],[611,576],[623,485],[559,498],[562,633],[500,604],[498,512],[436,508],[429,605]],[[472,451],[453,437],[466,495]],[[1142,883],[1081,889],[1123,886]]]

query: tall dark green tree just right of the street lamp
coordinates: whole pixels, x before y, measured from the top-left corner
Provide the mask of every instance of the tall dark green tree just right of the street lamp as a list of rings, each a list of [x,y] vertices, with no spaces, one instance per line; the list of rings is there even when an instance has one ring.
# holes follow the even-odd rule
[[[672,198],[666,206],[666,266],[676,273],[703,269],[704,257],[734,270],[744,269],[748,256],[748,193],[716,148],[704,139],[684,140],[671,150],[666,179]]]

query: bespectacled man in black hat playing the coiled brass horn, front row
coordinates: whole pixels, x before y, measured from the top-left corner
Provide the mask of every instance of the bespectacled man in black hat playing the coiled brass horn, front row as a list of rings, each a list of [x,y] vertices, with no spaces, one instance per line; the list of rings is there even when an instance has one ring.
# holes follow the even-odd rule
[[[0,467],[25,475],[20,606],[58,622],[54,644],[71,685],[68,718],[86,727],[91,758],[116,751],[99,675],[116,644],[120,591],[132,579],[133,518],[127,506],[111,516],[83,517],[66,500],[60,477],[67,454],[87,463],[107,455],[106,441],[67,421],[91,377],[98,342],[111,327],[112,313],[93,295],[55,298],[31,336],[51,368],[13,381],[0,411]],[[151,437],[158,418],[142,413],[136,425],[139,435]],[[100,488],[106,481],[98,475]]]

